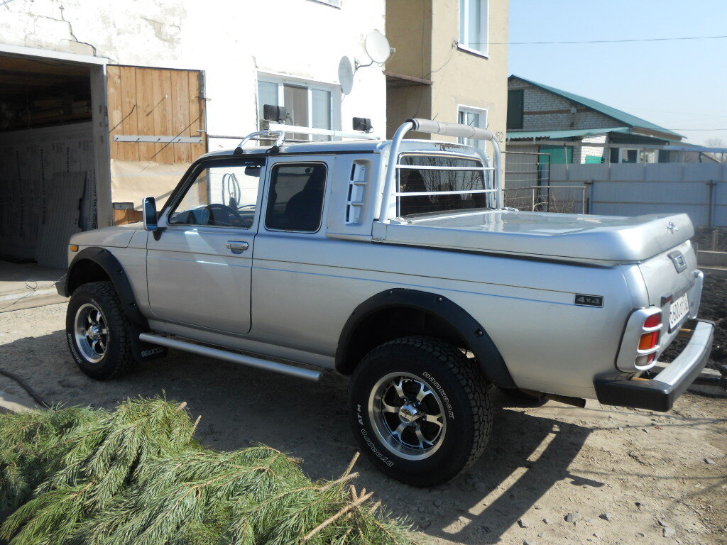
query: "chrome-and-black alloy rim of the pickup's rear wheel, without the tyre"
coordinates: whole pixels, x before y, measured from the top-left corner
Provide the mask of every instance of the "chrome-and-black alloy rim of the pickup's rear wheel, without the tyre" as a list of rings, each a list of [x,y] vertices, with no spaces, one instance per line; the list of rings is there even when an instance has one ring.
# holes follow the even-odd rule
[[[374,385],[369,395],[369,419],[383,445],[407,460],[432,456],[446,432],[439,395],[410,373],[390,373]]]

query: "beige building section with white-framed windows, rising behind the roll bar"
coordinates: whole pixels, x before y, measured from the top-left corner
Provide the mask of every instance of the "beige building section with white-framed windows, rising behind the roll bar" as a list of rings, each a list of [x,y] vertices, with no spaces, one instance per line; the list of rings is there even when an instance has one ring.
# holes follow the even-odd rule
[[[504,144],[508,7],[509,0],[386,1],[386,35],[396,48],[385,70],[387,137],[420,117],[486,127]]]

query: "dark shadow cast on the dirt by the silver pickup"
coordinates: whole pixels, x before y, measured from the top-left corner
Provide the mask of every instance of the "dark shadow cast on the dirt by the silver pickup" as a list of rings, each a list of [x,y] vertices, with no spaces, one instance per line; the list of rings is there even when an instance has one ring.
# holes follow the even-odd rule
[[[231,450],[260,442],[303,459],[314,479],[334,479],[356,443],[348,424],[348,379],[326,373],[314,384],[182,352],[148,363],[112,382],[77,370],[63,331],[2,346],[0,366],[31,384],[50,404],[111,408],[126,397],[166,395],[202,416],[198,439]],[[387,509],[430,536],[467,544],[497,543],[556,483],[603,483],[572,475],[590,428],[504,408],[494,397],[494,429],[482,458],[465,475],[431,489],[402,485],[358,462],[356,485],[376,491]],[[512,405],[511,405],[512,406]],[[574,494],[578,493],[574,490]]]

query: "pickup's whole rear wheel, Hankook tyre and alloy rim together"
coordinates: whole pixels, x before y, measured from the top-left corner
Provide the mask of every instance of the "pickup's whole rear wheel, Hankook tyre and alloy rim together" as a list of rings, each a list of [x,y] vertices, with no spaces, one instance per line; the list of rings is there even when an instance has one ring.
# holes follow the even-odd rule
[[[462,352],[438,339],[405,337],[375,348],[358,364],[349,396],[361,448],[402,483],[451,480],[489,438],[486,382]]]

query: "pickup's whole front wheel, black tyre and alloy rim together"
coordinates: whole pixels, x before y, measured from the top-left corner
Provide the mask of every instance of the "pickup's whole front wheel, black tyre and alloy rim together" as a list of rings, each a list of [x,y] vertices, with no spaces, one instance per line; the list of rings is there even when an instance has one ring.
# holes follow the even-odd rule
[[[91,282],[71,296],[65,336],[73,360],[92,379],[115,379],[134,366],[129,324],[111,282]]]

